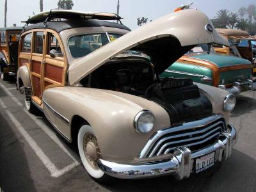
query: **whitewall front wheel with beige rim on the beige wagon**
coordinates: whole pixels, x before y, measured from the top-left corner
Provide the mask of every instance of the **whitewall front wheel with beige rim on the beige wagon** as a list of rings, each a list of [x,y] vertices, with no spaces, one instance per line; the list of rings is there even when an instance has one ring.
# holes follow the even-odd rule
[[[100,157],[97,138],[90,125],[83,125],[78,132],[77,145],[84,168],[93,179],[102,180],[106,177],[100,170],[97,161]]]

